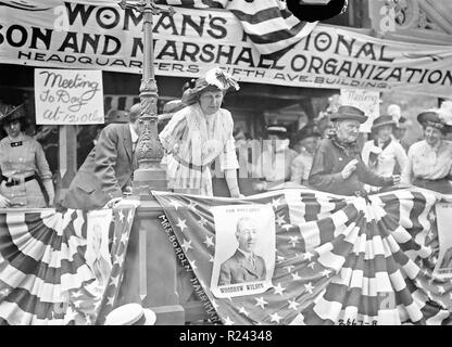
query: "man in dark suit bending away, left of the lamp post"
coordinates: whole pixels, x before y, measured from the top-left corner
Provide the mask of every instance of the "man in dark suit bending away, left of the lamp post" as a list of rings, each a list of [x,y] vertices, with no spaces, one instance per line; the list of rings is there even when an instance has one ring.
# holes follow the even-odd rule
[[[122,197],[131,185],[137,168],[134,150],[140,134],[140,105],[129,111],[128,124],[108,125],[99,134],[64,196],[62,206],[77,209],[102,208],[110,200]]]

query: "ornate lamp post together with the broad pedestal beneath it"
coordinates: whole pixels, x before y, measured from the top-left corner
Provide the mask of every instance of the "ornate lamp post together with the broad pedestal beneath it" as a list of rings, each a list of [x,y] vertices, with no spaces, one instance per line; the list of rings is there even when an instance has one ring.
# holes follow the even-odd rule
[[[143,20],[143,59],[142,78],[140,85],[140,130],[135,156],[138,169],[134,172],[133,196],[139,195],[143,201],[137,211],[137,221],[134,228],[137,233],[130,237],[129,252],[125,260],[125,272],[120,294],[120,305],[130,301],[141,301],[145,307],[161,307],[160,309],[173,317],[171,324],[184,323],[181,308],[174,309],[178,298],[176,294],[176,261],[168,257],[172,245],[167,242],[164,232],[159,230],[158,216],[161,214],[160,205],[153,201],[151,190],[166,190],[166,172],[160,167],[163,157],[163,147],[158,137],[158,88],[154,78],[154,53],[152,40],[152,16],[162,12],[174,14],[171,7],[158,7],[154,0],[136,0],[118,2],[123,10],[131,9],[142,13]],[[136,230],[134,229],[134,230]],[[155,252],[147,252],[149,245],[159,245]],[[136,252],[138,250],[138,252]],[[165,273],[162,273],[165,269]],[[171,273],[167,272],[170,269]],[[148,281],[149,278],[161,279]],[[148,296],[148,291],[154,293]],[[161,294],[155,294],[161,293]],[[173,307],[173,309],[170,309]]]

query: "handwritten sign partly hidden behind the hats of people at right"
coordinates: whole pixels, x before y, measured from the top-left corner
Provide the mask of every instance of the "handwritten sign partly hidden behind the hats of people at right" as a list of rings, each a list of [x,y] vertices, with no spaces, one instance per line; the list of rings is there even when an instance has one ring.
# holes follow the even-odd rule
[[[341,89],[342,105],[355,106],[363,111],[367,120],[361,125],[361,132],[371,132],[374,119],[380,115],[380,94],[378,91],[363,89]]]

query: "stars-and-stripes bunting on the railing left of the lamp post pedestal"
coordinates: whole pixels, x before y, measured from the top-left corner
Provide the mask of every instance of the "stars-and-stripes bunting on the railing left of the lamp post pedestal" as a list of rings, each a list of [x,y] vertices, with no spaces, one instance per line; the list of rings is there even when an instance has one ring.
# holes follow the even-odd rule
[[[114,208],[106,290],[87,265],[87,214],[68,209],[0,214],[0,324],[102,322],[121,284],[136,205]]]

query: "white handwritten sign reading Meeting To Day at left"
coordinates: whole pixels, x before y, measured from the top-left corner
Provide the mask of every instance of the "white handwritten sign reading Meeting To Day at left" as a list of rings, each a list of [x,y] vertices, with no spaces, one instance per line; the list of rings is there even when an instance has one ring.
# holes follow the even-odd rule
[[[36,124],[103,124],[101,70],[35,69]]]

